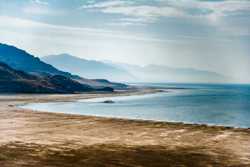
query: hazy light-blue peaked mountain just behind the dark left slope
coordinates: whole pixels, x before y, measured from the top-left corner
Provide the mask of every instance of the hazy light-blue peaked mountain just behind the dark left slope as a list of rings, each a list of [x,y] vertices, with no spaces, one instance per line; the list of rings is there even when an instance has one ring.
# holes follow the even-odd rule
[[[123,68],[117,68],[101,61],[86,60],[69,54],[50,55],[41,58],[56,68],[91,79],[108,79],[112,81],[134,81],[135,77]]]

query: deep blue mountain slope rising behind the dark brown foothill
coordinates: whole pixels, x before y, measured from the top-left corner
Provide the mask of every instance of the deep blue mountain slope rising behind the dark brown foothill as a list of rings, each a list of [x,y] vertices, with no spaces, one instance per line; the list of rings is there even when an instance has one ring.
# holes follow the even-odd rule
[[[59,61],[63,61],[59,60]],[[77,82],[80,82],[84,85],[91,85],[94,88],[104,88],[104,87],[112,87],[115,89],[124,89],[127,88],[127,85],[120,84],[120,83],[113,83],[113,82],[103,82],[101,80],[90,80],[83,77],[88,76],[82,76],[79,77],[77,75],[72,75],[69,72],[64,72],[58,70],[54,66],[47,64],[40,60],[39,58],[27,53],[26,51],[16,48],[14,46],[1,44],[0,43],[0,62],[3,62],[7,65],[9,65],[11,68],[15,70],[21,70],[29,74],[35,74],[40,76],[53,76],[53,75],[61,75],[73,80],[76,80]],[[68,64],[68,62],[64,61],[65,64]],[[86,73],[87,74],[87,73]]]

